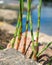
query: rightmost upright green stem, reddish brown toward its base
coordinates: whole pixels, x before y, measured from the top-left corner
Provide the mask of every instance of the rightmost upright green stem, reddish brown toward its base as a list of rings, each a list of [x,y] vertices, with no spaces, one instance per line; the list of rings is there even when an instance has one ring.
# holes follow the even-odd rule
[[[39,3],[39,8],[38,8],[38,28],[37,28],[37,36],[36,36],[36,42],[34,44],[34,54],[33,54],[33,58],[36,57],[36,54],[38,53],[38,39],[39,39],[39,31],[40,31],[40,17],[41,17],[41,6],[42,6],[42,0],[40,0],[40,3]],[[37,59],[37,58],[35,58]]]

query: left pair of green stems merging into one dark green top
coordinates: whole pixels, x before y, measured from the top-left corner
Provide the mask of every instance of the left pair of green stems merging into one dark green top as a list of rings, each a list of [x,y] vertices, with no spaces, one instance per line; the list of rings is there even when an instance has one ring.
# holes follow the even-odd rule
[[[23,14],[23,0],[20,0],[20,10],[19,10],[19,14],[18,14],[19,17],[18,17],[18,22],[16,25],[16,31],[14,33],[14,38],[12,40],[12,47],[14,47],[14,43],[15,43],[16,37],[18,35],[17,49],[19,47],[21,34],[22,34],[22,14]]]

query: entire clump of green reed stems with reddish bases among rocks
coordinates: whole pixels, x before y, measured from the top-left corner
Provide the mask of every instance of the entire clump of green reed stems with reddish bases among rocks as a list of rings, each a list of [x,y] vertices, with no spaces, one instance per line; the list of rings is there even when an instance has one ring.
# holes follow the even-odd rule
[[[40,53],[38,53],[38,40],[39,40],[39,32],[40,32],[40,17],[41,17],[41,6],[42,6],[42,0],[39,2],[38,6],[38,23],[37,23],[37,32],[36,32],[36,40],[34,42],[34,36],[33,36],[33,22],[32,22],[32,17],[31,17],[31,0],[27,0],[28,3],[28,9],[27,9],[27,21],[26,21],[26,32],[25,32],[25,37],[24,37],[24,46],[22,53],[25,54],[26,52],[26,39],[27,39],[27,32],[28,32],[28,24],[30,25],[30,31],[31,31],[31,38],[32,38],[32,59],[36,60],[40,57],[40,55],[52,44],[50,42],[45,48],[42,49]],[[12,42],[12,47],[14,47],[14,43],[16,40],[16,36],[18,36],[17,39],[17,50],[20,44],[21,36],[22,36],[22,16],[23,16],[23,0],[20,0],[20,10],[19,10],[19,17],[18,17],[18,22],[16,26],[16,31],[14,34],[14,39]]]

